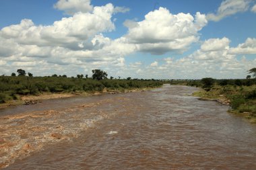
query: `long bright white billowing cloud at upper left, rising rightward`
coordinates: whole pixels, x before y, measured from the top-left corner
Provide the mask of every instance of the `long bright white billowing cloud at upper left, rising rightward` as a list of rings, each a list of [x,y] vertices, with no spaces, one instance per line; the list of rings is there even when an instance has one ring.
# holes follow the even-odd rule
[[[92,13],[75,13],[72,17],[63,17],[51,26],[36,26],[30,19],[22,19],[17,25],[7,26],[0,31],[1,38],[13,39],[18,44],[36,44],[38,46],[81,47],[100,32],[115,29],[111,21],[114,12],[112,4],[94,7]]]

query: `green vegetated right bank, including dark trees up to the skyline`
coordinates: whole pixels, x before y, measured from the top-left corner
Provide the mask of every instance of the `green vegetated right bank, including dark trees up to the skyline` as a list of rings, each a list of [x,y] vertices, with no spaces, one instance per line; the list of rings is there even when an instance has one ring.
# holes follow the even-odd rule
[[[208,78],[206,78],[208,79]],[[214,79],[211,79],[212,81]],[[209,86],[205,79],[190,81],[187,85],[201,87],[194,93],[201,99],[217,100],[230,105],[230,112],[241,114],[256,123],[256,79],[214,80]]]

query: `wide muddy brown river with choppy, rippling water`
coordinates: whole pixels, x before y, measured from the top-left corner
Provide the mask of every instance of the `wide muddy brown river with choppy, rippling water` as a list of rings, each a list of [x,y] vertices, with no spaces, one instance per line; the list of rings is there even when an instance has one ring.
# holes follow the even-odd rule
[[[164,85],[0,110],[2,169],[256,169],[256,125]],[[0,169],[1,169],[0,168]]]

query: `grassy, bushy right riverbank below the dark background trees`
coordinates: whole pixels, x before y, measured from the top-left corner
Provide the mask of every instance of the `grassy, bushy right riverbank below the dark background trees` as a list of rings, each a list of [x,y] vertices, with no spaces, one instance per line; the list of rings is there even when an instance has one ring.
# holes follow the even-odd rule
[[[230,105],[228,112],[243,116],[251,123],[256,123],[256,99],[254,99],[256,86],[231,86],[214,85],[205,91],[200,89],[193,96],[201,100],[217,101],[224,105]]]

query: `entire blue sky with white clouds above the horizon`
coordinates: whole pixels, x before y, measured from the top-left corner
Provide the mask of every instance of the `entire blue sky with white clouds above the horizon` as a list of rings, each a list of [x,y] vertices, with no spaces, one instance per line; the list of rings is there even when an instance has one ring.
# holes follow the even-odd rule
[[[244,79],[255,0],[0,0],[0,75]]]

